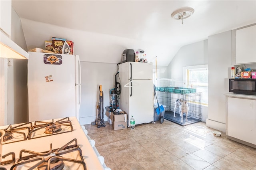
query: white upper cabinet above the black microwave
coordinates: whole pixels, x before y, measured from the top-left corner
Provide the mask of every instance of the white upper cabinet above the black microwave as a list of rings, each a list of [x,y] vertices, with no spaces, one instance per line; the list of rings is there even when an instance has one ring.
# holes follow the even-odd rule
[[[256,63],[256,25],[237,29],[233,33],[235,64]]]

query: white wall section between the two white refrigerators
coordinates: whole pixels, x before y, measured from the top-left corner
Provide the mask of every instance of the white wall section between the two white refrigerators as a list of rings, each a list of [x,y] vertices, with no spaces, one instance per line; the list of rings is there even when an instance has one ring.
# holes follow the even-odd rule
[[[109,90],[114,88],[114,77],[117,64],[81,62],[82,69],[82,101],[80,110],[80,124],[86,125],[95,121],[98,115],[99,85],[102,85],[104,108],[109,106]],[[122,85],[121,85],[122,86]],[[104,120],[107,121],[104,109]]]

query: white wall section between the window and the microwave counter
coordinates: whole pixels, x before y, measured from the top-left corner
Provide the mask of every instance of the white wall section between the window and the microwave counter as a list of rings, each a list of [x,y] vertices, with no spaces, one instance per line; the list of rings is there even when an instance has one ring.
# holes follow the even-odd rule
[[[226,131],[226,98],[232,67],[232,31],[208,37],[208,127]]]

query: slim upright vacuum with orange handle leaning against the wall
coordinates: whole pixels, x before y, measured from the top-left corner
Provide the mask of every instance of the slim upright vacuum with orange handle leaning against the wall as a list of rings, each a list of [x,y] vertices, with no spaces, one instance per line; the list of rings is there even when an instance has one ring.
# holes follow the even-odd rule
[[[100,127],[105,127],[105,121],[104,121],[104,108],[103,108],[103,91],[102,91],[102,85],[99,87],[100,89],[100,102],[98,103],[97,109],[98,109],[98,118],[95,120],[95,124]],[[93,124],[93,123],[92,123]],[[94,124],[94,125],[95,125]]]

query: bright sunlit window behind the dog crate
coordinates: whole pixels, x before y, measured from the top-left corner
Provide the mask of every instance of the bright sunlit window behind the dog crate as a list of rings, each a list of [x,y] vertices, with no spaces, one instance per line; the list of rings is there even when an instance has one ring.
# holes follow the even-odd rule
[[[202,92],[202,103],[208,105],[208,65],[183,67],[183,77],[184,81],[192,82],[190,87]]]

